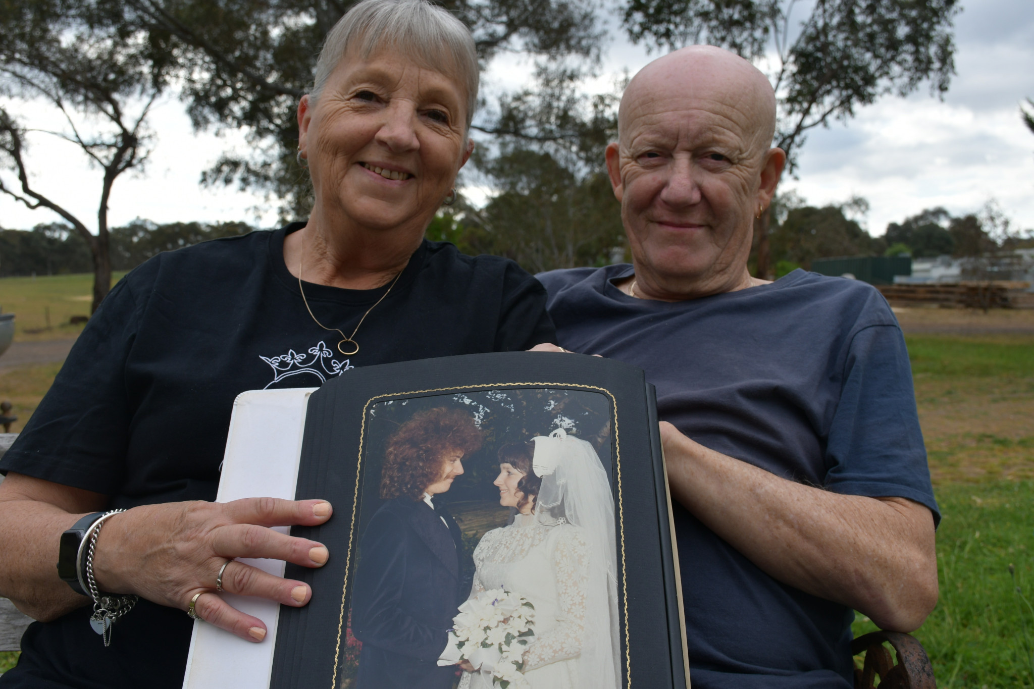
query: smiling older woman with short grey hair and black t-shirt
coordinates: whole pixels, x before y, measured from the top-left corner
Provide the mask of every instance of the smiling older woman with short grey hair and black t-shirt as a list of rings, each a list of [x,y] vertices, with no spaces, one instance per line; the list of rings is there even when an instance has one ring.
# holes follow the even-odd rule
[[[298,107],[308,221],[164,253],[116,285],[0,463],[0,595],[40,621],[0,687],[179,687],[188,613],[266,635],[217,588],[308,602],[305,584],[235,558],[321,566],[324,544],[266,527],[316,525],[331,505],[210,502],[242,390],[553,337],[545,292],[515,263],[423,240],[455,197],[477,95],[455,18],[359,3]],[[93,609],[91,573],[108,598]]]

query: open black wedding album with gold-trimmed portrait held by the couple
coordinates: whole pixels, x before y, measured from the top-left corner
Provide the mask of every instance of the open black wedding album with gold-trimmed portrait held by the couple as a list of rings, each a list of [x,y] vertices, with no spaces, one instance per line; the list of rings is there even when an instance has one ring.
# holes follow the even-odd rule
[[[473,354],[244,393],[221,471],[220,502],[331,502],[326,524],[291,529],[330,560],[248,561],[312,598],[220,594],[262,619],[267,640],[196,622],[184,689],[689,686],[655,393],[639,369]]]

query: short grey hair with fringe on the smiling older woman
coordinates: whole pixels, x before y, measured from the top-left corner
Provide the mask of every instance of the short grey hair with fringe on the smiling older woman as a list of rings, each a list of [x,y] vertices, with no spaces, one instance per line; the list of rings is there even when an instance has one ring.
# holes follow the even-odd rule
[[[474,37],[447,9],[427,0],[362,0],[327,34],[309,99],[324,86],[346,53],[365,60],[379,50],[406,55],[421,66],[456,79],[466,91],[466,131],[478,104],[480,68]]]

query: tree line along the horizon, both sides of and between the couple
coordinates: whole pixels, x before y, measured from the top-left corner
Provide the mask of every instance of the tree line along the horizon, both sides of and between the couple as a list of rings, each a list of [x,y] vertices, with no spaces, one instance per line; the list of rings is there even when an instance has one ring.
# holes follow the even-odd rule
[[[531,273],[630,259],[620,207],[605,176],[578,180],[549,154],[527,150],[516,150],[504,159],[509,164],[499,165],[494,176],[499,193],[483,208],[460,197],[431,221],[429,240],[452,242],[472,255],[506,256]],[[868,212],[863,198],[819,208],[793,192],[778,195],[768,231],[773,267],[769,277],[797,268],[810,270],[816,258],[900,254],[976,258],[1034,247],[1034,233],[1014,229],[993,201],[979,213],[961,216],[943,208],[925,209],[890,223],[883,237],[871,236],[859,224]],[[128,271],[161,251],[254,229],[243,222],[158,224],[138,219],[112,228],[112,268]],[[757,267],[757,249],[752,271]],[[0,277],[92,270],[89,249],[66,224],[0,229]]]

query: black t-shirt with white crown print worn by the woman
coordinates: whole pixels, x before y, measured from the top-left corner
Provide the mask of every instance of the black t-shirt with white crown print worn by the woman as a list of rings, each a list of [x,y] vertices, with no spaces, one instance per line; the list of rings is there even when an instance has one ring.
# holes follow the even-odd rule
[[[283,261],[283,238],[302,226],[161,253],[120,280],[0,471],[109,495],[110,508],[214,500],[233,402],[244,390],[315,387],[355,367],[554,339],[545,290],[516,263],[425,241],[363,321],[359,352],[344,356]],[[351,334],[387,288],[306,283],[305,295],[321,322]],[[30,625],[0,687],[182,686],[185,613],[142,600],[107,649],[90,613]]]

